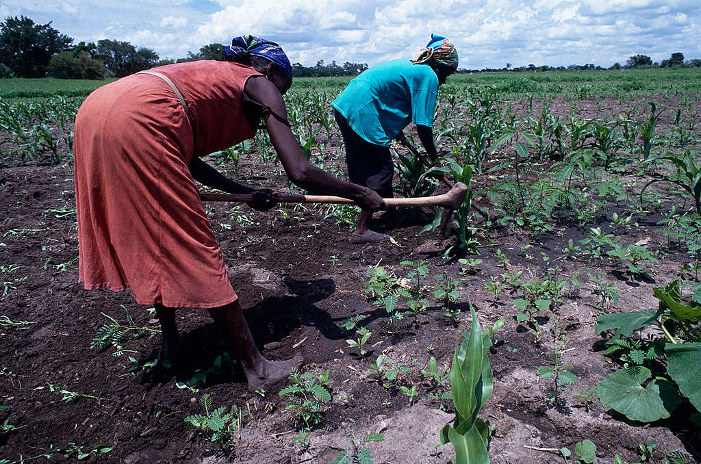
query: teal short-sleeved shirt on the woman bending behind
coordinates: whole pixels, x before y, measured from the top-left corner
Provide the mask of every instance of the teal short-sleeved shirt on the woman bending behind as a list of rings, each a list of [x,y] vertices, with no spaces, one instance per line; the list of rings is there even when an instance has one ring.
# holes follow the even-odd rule
[[[392,60],[360,73],[331,103],[363,139],[389,146],[409,123],[433,127],[438,77],[428,64]]]

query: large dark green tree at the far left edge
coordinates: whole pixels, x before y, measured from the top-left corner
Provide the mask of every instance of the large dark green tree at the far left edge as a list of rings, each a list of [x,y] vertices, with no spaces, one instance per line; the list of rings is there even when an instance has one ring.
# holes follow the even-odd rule
[[[0,62],[20,77],[43,77],[53,55],[68,50],[73,39],[26,16],[0,22]]]

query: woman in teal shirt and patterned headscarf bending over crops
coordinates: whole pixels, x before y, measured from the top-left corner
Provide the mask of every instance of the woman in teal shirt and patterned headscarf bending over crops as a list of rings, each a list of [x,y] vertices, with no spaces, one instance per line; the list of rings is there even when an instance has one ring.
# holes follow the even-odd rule
[[[383,198],[393,196],[392,139],[416,124],[418,138],[432,160],[438,158],[433,141],[438,86],[458,69],[458,52],[445,37],[432,34],[415,60],[378,64],[348,83],[331,103],[346,144],[348,177],[354,184],[375,190]],[[371,231],[372,211],[363,210],[351,235],[356,243],[389,240]]]

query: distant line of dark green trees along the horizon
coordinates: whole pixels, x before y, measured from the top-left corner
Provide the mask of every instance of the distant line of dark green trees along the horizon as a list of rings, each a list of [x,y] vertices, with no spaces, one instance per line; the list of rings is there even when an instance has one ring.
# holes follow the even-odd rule
[[[197,53],[188,52],[186,57],[177,60],[161,60],[158,53],[150,48],[135,47],[129,42],[103,39],[93,42],[81,41],[73,45],[73,39],[51,27],[36,24],[30,18],[5,18],[0,22],[0,78],[45,76],[60,79],[104,79],[123,77],[142,69],[174,62],[194,60],[224,60],[224,46],[220,43],[205,45]],[[684,61],[681,52],[672,53],[668,60],[653,63],[647,55],[633,55],[625,65],[615,63],[608,69],[632,69],[648,67],[701,67],[701,60]],[[295,77],[355,76],[367,69],[367,63],[345,62],[341,65],[332,61],[325,64],[320,60],[313,67],[301,63],[292,64]],[[550,71],[573,69],[606,69],[592,63],[571,64],[568,67],[512,67],[507,63],[501,69],[460,69],[471,71]]]

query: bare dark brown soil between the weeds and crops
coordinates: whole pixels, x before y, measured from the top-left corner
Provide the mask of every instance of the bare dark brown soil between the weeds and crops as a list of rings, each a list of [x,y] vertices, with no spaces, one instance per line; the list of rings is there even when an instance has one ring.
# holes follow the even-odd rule
[[[618,100],[603,104],[613,112]],[[589,117],[597,114],[596,102],[580,102],[580,106],[583,113],[591,113]],[[566,103],[553,102],[552,111],[566,111]],[[670,115],[666,116],[662,124],[669,124]],[[339,151],[339,147],[334,150]],[[243,163],[254,172],[273,170],[273,166],[253,159],[250,156]],[[342,165],[338,167],[343,172]],[[639,444],[647,442],[655,442],[662,451],[684,449],[695,456],[688,462],[700,462],[699,438],[690,426],[688,411],[678,411],[668,421],[644,425],[631,423],[615,411],[604,411],[595,398],[586,404],[573,395],[589,392],[618,368],[604,356],[603,339],[594,332],[599,296],[586,275],[581,279],[583,285],[568,292],[559,307],[542,314],[542,340],[538,343],[532,327],[515,320],[517,309],[512,299],[517,295],[506,288],[495,299],[484,285],[492,279],[501,280],[505,272],[535,276],[543,266],[540,252],[561,256],[567,241],[572,238],[577,243],[589,226],[607,228],[604,217],[582,228],[557,224],[554,232],[536,238],[519,228],[479,231],[476,238],[484,245],[479,249],[482,263],[472,273],[461,275],[465,266],[458,264],[456,256],[442,257],[454,245],[454,238],[434,240],[430,233],[424,233],[417,239],[421,228],[433,220],[433,212],[428,210],[404,210],[400,224],[386,224],[376,214],[376,228],[390,233],[396,243],[356,245],[349,240],[347,225],[325,218],[326,207],[287,205],[261,213],[230,203],[207,205],[229,278],[264,355],[285,359],[301,353],[306,362],[303,371],[315,375],[330,371],[332,402],[327,404],[323,421],[306,442],[293,442],[297,424],[285,412],[287,402],[278,397],[284,384],[262,394],[251,393],[243,372],[233,362],[231,369],[225,364],[218,373],[207,374],[206,383],[199,385],[197,392],[178,388],[196,373],[212,369],[217,356],[226,350],[205,311],[178,311],[186,360],[177,369],[143,367],[158,356],[158,334],[126,341],[128,352],[119,357],[114,356],[113,347],[102,351],[91,348],[93,337],[107,322],[104,315],[126,323],[128,311],[137,326],[152,329],[158,329],[158,321],[154,313],[137,306],[128,291],[87,292],[77,282],[75,216],[59,217],[63,210],[74,207],[70,163],[9,166],[0,175],[4,182],[0,191],[4,211],[0,264],[4,269],[18,266],[2,274],[7,283],[0,315],[12,322],[26,322],[0,327],[0,400],[6,407],[0,412],[0,425],[7,419],[17,428],[0,435],[0,461],[36,457],[43,462],[50,455],[51,462],[76,460],[76,453],[69,458],[64,455],[77,447],[89,453],[93,446],[102,444],[114,448],[99,458],[86,458],[88,462],[329,463],[349,446],[345,433],[355,430],[362,435],[386,435],[385,442],[369,444],[376,463],[445,463],[451,458],[451,446],[434,445],[438,444],[437,431],[453,418],[451,403],[429,395],[437,390],[423,380],[420,370],[431,356],[440,366],[450,364],[458,337],[470,328],[471,301],[483,327],[506,318],[490,353],[494,396],[480,414],[496,425],[492,462],[560,463],[557,449],[573,449],[583,439],[597,445],[597,456],[606,463],[613,462],[614,454],[625,462],[639,460]],[[490,182],[488,176],[475,177],[473,188]],[[286,179],[278,172],[261,174],[252,183],[284,186]],[[670,195],[665,208],[675,202],[679,196]],[[232,217],[231,208],[237,206],[238,214]],[[237,215],[246,220],[237,222]],[[618,233],[617,239],[636,243],[649,237],[648,247],[662,251],[666,239],[656,225],[659,217],[657,212],[635,217],[639,227]],[[497,250],[508,257],[508,264],[496,257]],[[649,266],[650,282],[634,281],[609,265],[592,268],[587,261],[562,260],[560,266],[562,275],[567,276],[603,273],[604,280],[620,290],[618,309],[611,311],[651,309],[657,306],[651,287],[669,282],[687,260],[680,250],[666,252],[659,264]],[[367,271],[378,265],[405,276],[408,268],[400,265],[404,260],[425,260],[428,264],[430,275],[423,290],[430,306],[418,315],[416,324],[398,325],[390,331],[385,311],[368,301],[363,284],[368,280]],[[449,323],[440,303],[430,296],[437,274],[466,282],[460,287],[463,312],[456,325]],[[352,334],[341,327],[353,315],[367,315],[362,325],[372,330],[368,342],[372,352],[365,359],[358,350],[348,348],[346,339]],[[556,319],[569,340],[565,362],[579,378],[563,394],[564,405],[557,408],[547,400],[550,381],[539,377],[537,371],[539,366],[550,365],[554,343],[548,331]],[[411,368],[399,383],[418,385],[418,396],[412,402],[397,386],[387,388],[366,374],[381,353]],[[62,401],[61,390],[97,398],[79,396]],[[202,412],[198,399],[204,393],[212,396],[214,407],[235,404],[245,411],[242,427],[233,434],[226,453],[184,421],[186,416]],[[39,458],[42,455],[45,457]]]

